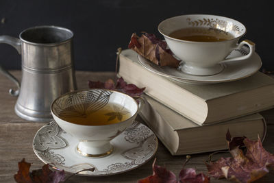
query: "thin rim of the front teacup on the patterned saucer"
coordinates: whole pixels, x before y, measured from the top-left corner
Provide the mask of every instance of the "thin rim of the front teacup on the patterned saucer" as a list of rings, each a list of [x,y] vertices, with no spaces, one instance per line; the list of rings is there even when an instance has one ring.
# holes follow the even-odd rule
[[[65,121],[64,119],[61,119],[60,117],[58,117],[56,114],[55,114],[55,112],[53,112],[53,110],[52,110],[52,108],[53,108],[53,104],[55,103],[55,101],[57,101],[58,99],[60,99],[60,98],[62,98],[62,97],[64,97],[64,96],[66,96],[66,95],[70,95],[70,94],[73,94],[73,93],[79,93],[79,92],[82,92],[82,91],[88,91],[88,90],[108,90],[108,91],[112,91],[112,92],[116,92],[116,93],[121,93],[121,94],[123,94],[123,95],[126,95],[126,96],[128,96],[128,97],[130,97],[130,98],[132,98],[132,100],[136,103],[136,106],[137,106],[137,110],[136,110],[136,112],[131,116],[131,117],[129,117],[128,119],[126,119],[126,120],[124,120],[124,121],[120,121],[119,123],[112,123],[112,124],[108,124],[108,125],[82,125],[82,124],[76,124],[76,123],[72,123],[72,122],[69,122],[69,121]],[[132,97],[132,96],[130,96],[130,95],[127,95],[127,94],[125,94],[125,93],[123,93],[123,92],[120,92],[120,91],[117,91],[117,90],[110,90],[110,89],[104,89],[104,88],[89,88],[89,89],[82,89],[82,90],[73,90],[73,91],[71,91],[71,92],[69,92],[69,93],[64,93],[63,95],[60,95],[59,97],[57,97],[56,99],[54,99],[53,100],[53,102],[51,103],[51,114],[53,115],[54,114],[54,116],[55,117],[58,117],[58,119],[61,119],[62,121],[64,121],[64,122],[66,122],[66,123],[70,123],[70,124],[73,124],[73,125],[81,125],[81,126],[89,126],[89,127],[102,127],[102,126],[110,126],[110,125],[117,125],[117,124],[120,124],[120,123],[125,123],[127,120],[129,120],[129,119],[131,119],[132,117],[134,117],[135,115],[136,115],[136,113],[138,113],[138,103],[137,103],[137,101]],[[57,122],[56,122],[57,123]]]

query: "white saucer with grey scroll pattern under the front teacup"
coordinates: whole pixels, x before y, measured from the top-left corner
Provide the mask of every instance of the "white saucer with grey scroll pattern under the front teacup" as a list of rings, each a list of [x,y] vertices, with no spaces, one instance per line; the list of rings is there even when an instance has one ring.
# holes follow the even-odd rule
[[[134,121],[130,127],[110,143],[114,151],[103,158],[87,158],[76,151],[77,140],[64,132],[55,121],[38,130],[34,136],[34,153],[42,162],[57,170],[78,175],[105,176],[123,173],[140,167],[158,149],[158,139],[149,127]]]

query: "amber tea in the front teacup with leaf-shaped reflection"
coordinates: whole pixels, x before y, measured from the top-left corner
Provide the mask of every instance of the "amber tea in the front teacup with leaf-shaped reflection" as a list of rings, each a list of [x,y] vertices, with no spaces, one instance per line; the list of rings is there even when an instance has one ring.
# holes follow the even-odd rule
[[[73,111],[74,106],[70,106],[64,110]],[[132,117],[131,112],[127,108],[116,103],[108,103],[103,108],[91,112],[90,114],[79,114],[78,116],[60,117],[64,121],[69,121],[78,125],[110,125],[125,121]]]

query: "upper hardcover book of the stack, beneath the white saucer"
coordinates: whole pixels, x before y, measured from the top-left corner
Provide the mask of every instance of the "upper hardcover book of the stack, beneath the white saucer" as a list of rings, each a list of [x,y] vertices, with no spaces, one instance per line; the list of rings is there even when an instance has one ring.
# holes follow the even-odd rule
[[[120,54],[118,75],[146,87],[145,93],[198,125],[219,123],[273,108],[274,79],[257,72],[245,79],[221,84],[176,82],[148,71],[131,49]]]

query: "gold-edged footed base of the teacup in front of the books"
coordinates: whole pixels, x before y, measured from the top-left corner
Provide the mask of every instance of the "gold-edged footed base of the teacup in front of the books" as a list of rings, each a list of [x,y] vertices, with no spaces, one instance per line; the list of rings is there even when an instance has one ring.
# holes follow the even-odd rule
[[[88,158],[102,158],[112,154],[114,147],[110,143],[107,143],[101,147],[88,147],[85,146],[84,143],[80,142],[77,145],[76,150],[79,154]]]

